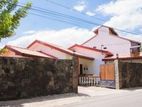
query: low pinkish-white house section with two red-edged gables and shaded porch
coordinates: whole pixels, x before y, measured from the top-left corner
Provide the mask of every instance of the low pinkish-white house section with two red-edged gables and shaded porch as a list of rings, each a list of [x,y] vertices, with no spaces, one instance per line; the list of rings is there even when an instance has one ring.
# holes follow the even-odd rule
[[[81,45],[74,45],[69,49],[65,49],[61,46],[39,40],[35,40],[27,48],[52,55],[58,59],[72,59],[73,56],[77,56],[79,63],[78,74],[99,75],[99,65],[102,62],[102,58],[112,56],[111,52],[105,50],[92,49]],[[94,71],[96,72],[94,73]]]

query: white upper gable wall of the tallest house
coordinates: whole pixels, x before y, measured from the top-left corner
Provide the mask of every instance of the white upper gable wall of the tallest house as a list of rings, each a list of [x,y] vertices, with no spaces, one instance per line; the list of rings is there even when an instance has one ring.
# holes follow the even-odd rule
[[[114,55],[130,55],[130,41],[120,39],[115,35],[111,35],[107,27],[101,27],[98,31],[98,35],[83,45],[88,47],[96,47],[97,49],[107,47],[105,50],[112,52]]]

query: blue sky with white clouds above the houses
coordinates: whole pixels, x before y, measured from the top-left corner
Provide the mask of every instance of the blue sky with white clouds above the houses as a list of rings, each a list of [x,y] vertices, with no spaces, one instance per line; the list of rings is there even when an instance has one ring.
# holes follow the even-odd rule
[[[32,2],[28,15],[0,47],[27,47],[36,39],[69,47],[94,36],[100,25],[142,42],[142,0],[19,0],[20,5],[26,2]]]

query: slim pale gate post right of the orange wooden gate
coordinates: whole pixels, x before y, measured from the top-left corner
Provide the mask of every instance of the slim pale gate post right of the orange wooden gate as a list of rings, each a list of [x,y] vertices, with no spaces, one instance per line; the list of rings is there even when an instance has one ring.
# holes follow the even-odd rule
[[[114,61],[115,65],[115,89],[120,89],[119,87],[119,66],[118,66],[118,59]]]

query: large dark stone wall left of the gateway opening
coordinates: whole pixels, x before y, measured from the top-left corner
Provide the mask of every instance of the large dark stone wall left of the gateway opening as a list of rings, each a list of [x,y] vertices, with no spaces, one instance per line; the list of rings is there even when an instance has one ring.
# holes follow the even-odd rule
[[[0,100],[77,92],[74,60],[0,57]]]

